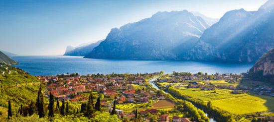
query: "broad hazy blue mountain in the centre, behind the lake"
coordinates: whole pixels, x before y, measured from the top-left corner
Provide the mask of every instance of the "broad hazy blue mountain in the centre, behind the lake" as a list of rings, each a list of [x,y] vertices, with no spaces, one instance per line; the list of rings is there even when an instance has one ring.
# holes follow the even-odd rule
[[[157,12],[114,28],[85,56],[96,59],[176,60],[190,50],[210,25],[187,10]]]

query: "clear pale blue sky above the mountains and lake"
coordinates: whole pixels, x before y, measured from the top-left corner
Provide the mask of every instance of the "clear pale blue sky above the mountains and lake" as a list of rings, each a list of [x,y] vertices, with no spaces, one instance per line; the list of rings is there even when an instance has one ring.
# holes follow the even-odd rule
[[[267,0],[0,0],[0,50],[62,55],[106,38],[111,28],[157,11],[198,11],[220,18],[233,9],[257,10]]]

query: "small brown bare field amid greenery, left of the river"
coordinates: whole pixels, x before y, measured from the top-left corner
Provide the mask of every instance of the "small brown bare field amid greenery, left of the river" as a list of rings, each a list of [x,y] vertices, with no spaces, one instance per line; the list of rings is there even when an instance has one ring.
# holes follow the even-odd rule
[[[152,104],[152,109],[172,109],[175,104],[168,100],[159,100],[156,103]]]

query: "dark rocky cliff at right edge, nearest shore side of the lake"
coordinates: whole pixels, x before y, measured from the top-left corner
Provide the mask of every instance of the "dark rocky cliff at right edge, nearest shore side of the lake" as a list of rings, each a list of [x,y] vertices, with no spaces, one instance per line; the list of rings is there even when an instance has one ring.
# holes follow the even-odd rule
[[[254,80],[274,83],[274,49],[263,55],[248,74]]]

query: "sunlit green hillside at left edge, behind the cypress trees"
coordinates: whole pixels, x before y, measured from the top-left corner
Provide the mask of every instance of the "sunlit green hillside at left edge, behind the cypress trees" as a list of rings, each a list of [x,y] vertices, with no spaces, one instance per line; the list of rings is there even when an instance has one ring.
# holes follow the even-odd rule
[[[0,63],[0,114],[6,114],[8,100],[13,112],[20,104],[29,104],[35,100],[40,80],[22,69]]]

